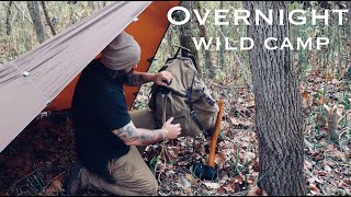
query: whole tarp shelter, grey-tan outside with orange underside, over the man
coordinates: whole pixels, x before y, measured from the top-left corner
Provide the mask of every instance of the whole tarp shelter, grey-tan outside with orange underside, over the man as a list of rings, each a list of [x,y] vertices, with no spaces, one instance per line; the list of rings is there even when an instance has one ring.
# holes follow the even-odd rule
[[[0,67],[0,151],[41,112],[69,109],[81,71],[122,31],[141,47],[147,71],[179,2],[116,1]],[[138,18],[138,20],[136,20]],[[131,106],[139,88],[125,88]]]

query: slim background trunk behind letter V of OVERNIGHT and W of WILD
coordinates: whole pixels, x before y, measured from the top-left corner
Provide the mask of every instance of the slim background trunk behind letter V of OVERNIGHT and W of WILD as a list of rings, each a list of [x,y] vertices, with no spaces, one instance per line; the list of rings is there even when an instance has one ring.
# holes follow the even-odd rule
[[[202,7],[201,7],[201,2],[200,1],[194,1],[195,5],[194,8],[196,8],[199,10],[199,13],[201,15],[201,18],[203,18],[203,12],[202,12]],[[207,32],[206,32],[206,27],[205,25],[200,25],[200,23],[197,23],[199,25],[199,36],[200,37],[204,37],[206,43],[208,42],[208,36],[207,36]],[[205,50],[205,49],[203,49]],[[204,61],[205,61],[205,68],[206,70],[208,70],[208,74],[210,74],[210,79],[213,79],[215,77],[215,68],[212,63],[212,55],[211,55],[211,50],[205,50],[204,53]]]

